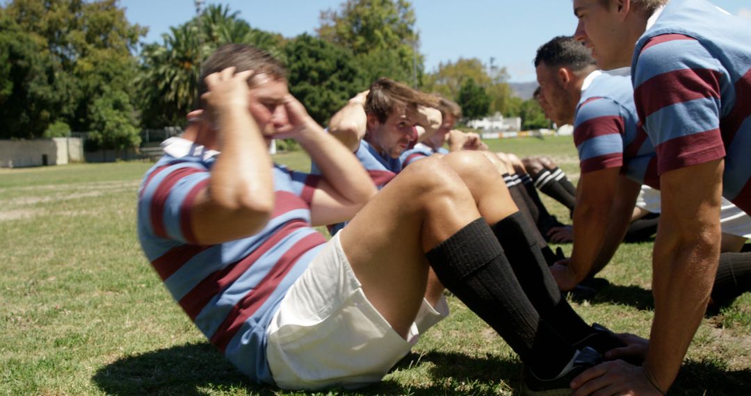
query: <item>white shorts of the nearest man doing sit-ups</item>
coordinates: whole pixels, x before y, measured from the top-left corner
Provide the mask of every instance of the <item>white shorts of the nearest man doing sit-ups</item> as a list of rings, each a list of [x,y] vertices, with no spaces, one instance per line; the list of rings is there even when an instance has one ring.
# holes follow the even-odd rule
[[[442,297],[427,301],[402,338],[368,301],[349,265],[339,232],[282,299],[268,329],[267,359],[282,389],[356,388],[378,382],[421,332],[448,315]]]

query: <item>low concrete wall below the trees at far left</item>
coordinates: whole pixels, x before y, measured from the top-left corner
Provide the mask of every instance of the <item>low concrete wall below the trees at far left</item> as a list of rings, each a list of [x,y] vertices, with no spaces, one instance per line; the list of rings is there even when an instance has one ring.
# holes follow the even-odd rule
[[[79,138],[0,140],[0,167],[64,165],[83,160]]]

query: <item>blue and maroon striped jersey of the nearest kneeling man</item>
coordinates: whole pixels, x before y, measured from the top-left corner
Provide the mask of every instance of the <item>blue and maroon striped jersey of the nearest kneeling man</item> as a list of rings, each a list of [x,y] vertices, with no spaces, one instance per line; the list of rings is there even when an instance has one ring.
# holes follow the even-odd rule
[[[632,79],[659,173],[725,157],[722,194],[751,212],[751,23],[671,0],[638,40]]]

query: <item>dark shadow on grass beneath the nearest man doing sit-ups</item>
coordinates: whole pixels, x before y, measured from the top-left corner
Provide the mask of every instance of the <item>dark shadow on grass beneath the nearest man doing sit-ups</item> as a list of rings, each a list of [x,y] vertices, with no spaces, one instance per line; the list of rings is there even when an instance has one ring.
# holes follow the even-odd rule
[[[475,358],[460,353],[433,351],[423,355],[409,353],[392,371],[406,371],[426,362],[435,365],[430,369],[433,386],[415,389],[397,380],[385,380],[354,392],[331,389],[329,394],[454,394],[458,384],[472,383],[477,388],[493,388],[501,380],[510,380],[515,384],[521,370],[519,362],[497,356]],[[232,389],[245,389],[253,395],[293,393],[252,382],[208,343],[186,344],[127,356],[99,369],[92,380],[108,395],[208,395]],[[321,395],[325,394],[327,392]]]

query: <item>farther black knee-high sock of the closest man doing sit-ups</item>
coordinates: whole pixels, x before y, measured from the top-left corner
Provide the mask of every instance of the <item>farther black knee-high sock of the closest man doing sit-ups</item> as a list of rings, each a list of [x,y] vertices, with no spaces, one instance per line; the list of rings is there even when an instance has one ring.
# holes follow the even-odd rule
[[[571,308],[541,254],[533,229],[519,212],[490,227],[500,242],[514,275],[540,316],[569,343],[576,344],[593,329]]]

